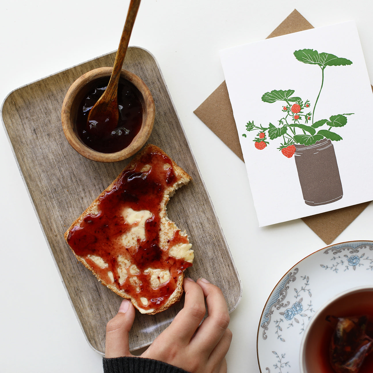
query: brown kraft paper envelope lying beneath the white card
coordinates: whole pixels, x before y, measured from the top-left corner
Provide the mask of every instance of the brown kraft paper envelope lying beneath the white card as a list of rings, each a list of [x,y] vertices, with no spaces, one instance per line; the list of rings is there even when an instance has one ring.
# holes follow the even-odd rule
[[[294,10],[268,38],[311,29],[313,26]],[[373,87],[372,87],[373,89]],[[231,102],[225,81],[194,111],[203,123],[213,131],[241,160],[241,146],[233,118]],[[329,245],[368,206],[360,203],[343,209],[328,211],[302,218],[302,220]]]

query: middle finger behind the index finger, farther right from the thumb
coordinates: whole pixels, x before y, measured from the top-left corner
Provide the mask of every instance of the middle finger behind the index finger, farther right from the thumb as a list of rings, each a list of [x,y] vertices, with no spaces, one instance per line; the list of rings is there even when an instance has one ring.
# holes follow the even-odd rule
[[[199,350],[203,349],[210,354],[228,328],[228,307],[222,291],[217,286],[205,279],[199,279],[198,284],[206,297],[208,316],[193,338],[193,344]]]

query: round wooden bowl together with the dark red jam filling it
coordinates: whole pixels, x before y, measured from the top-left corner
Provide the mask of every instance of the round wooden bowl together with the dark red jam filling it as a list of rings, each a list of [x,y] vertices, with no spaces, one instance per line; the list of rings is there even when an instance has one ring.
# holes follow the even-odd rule
[[[153,129],[155,106],[145,83],[122,70],[118,85],[117,123],[107,130],[89,128],[88,113],[105,91],[112,68],[82,75],[69,88],[62,104],[62,128],[70,145],[82,156],[98,162],[116,162],[135,154]]]

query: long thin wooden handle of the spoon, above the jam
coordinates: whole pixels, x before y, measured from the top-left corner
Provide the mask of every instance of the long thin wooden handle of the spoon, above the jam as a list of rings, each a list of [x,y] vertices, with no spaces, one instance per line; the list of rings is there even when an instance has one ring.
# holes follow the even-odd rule
[[[113,72],[110,76],[109,84],[107,85],[107,90],[109,91],[117,90],[120,71],[122,70],[124,57],[126,56],[129,38],[131,37],[132,28],[134,27],[137,11],[140,6],[140,1],[141,0],[131,0],[129,3],[126,22],[122,31],[122,36],[120,37],[119,47],[115,56]]]

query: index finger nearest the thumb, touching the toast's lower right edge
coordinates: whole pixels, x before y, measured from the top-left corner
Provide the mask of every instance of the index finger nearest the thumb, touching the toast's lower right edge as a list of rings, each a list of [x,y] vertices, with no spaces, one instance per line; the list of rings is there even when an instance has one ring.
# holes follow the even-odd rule
[[[192,279],[184,279],[184,291],[184,308],[179,311],[165,332],[173,338],[177,336],[182,344],[187,344],[205,316],[206,307],[203,291]]]

